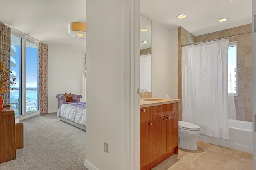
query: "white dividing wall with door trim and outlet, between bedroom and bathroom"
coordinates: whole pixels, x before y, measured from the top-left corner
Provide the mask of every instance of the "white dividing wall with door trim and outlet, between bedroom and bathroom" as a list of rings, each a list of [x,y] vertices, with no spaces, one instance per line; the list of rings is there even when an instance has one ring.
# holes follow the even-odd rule
[[[137,170],[139,1],[87,0],[86,25],[84,165],[90,170]]]

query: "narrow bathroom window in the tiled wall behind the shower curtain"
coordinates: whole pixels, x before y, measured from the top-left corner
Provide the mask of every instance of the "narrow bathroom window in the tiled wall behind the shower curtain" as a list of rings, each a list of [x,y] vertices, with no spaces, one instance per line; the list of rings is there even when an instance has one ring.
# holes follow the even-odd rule
[[[237,43],[230,42],[228,48],[228,93],[237,96]]]

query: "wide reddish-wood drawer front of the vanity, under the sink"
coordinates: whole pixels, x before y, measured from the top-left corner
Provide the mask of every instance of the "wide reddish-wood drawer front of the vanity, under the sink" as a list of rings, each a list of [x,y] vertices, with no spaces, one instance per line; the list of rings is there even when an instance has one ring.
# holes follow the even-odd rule
[[[164,117],[175,113],[178,113],[178,102],[152,106],[152,119],[157,119],[159,117]]]

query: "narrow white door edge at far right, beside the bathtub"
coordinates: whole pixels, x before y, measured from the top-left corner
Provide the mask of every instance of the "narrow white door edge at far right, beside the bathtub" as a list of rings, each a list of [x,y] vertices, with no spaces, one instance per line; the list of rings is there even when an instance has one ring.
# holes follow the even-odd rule
[[[255,132],[255,117],[256,117],[256,33],[254,32],[254,15],[256,15],[256,0],[252,0],[252,123],[253,123],[253,169],[256,170],[256,132]]]

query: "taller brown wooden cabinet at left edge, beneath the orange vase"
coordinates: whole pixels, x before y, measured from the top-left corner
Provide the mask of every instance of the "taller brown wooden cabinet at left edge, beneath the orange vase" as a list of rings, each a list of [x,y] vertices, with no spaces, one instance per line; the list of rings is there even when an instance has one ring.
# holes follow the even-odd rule
[[[0,163],[16,159],[15,117],[10,105],[0,111]]]

